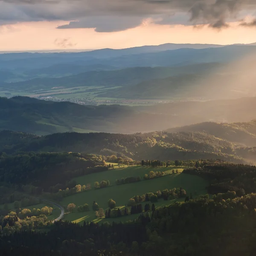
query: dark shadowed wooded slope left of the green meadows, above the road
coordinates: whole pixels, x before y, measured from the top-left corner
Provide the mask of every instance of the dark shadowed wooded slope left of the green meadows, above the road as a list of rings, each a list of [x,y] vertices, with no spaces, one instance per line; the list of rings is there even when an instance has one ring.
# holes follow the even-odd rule
[[[102,157],[96,155],[23,152],[10,156],[1,153],[0,182],[17,184],[20,189],[22,185],[29,185],[26,192],[30,194],[40,194],[43,189],[58,192],[66,189],[73,177],[107,169]]]

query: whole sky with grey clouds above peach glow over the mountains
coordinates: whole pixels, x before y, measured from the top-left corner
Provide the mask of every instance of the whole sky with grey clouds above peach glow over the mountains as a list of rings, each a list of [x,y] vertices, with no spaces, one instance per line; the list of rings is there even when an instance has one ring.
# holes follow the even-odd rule
[[[256,42],[256,0],[0,0],[0,51]]]

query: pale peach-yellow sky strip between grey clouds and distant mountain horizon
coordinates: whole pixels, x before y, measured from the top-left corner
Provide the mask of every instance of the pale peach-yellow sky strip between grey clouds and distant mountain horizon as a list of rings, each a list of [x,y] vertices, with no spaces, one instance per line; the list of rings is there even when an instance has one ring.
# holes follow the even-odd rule
[[[122,32],[99,33],[94,29],[56,29],[67,21],[41,21],[0,26],[0,51],[47,49],[127,48],[165,43],[250,44],[256,28],[230,23],[221,31],[204,26],[156,25],[145,20],[139,27]],[[66,40],[67,39],[67,40]]]

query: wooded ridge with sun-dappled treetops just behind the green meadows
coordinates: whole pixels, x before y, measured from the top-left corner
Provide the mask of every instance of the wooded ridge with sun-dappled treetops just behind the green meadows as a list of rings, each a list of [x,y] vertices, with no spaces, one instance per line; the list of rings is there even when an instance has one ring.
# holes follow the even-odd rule
[[[255,148],[222,140],[204,132],[146,134],[62,133],[47,136],[1,131],[0,151],[79,152],[116,155],[133,160],[222,159],[243,163],[255,159]]]

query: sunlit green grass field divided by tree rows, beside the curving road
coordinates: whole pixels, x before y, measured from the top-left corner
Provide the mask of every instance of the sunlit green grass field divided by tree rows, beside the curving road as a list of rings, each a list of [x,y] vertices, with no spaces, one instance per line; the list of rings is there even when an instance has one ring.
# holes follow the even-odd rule
[[[205,187],[208,185],[206,180],[195,175],[180,173],[183,171],[183,169],[179,169],[180,172],[178,174],[169,175],[169,173],[172,173],[172,169],[176,170],[174,167],[160,168],[159,170],[166,173],[166,175],[163,177],[123,185],[115,185],[114,182],[118,178],[138,175],[143,176],[145,173],[148,173],[151,170],[157,171],[157,169],[133,166],[78,177],[76,178],[76,181],[79,184],[91,183],[93,186],[94,181],[110,180],[113,186],[103,189],[91,189],[87,192],[81,192],[79,194],[64,198],[60,203],[64,206],[67,206],[70,203],[76,204],[77,207],[83,204],[89,204],[90,206],[89,212],[75,211],[65,214],[64,220],[74,221],[77,223],[83,223],[84,221],[126,221],[129,219],[134,219],[139,215],[128,215],[120,218],[98,220],[95,217],[95,212],[91,210],[93,201],[96,201],[100,208],[108,209],[108,199],[110,198],[116,201],[116,207],[121,208],[124,207],[128,200],[134,195],[143,195],[148,192],[156,192],[157,190],[172,189],[175,187],[182,187],[186,190],[188,195],[190,193],[193,195],[201,195],[206,193]],[[184,198],[180,198],[180,200],[184,201]],[[155,203],[155,205],[162,206],[171,203],[172,201],[159,200],[157,203]],[[143,202],[143,207],[145,204],[146,202]]]

